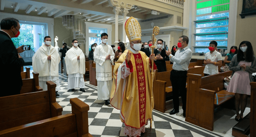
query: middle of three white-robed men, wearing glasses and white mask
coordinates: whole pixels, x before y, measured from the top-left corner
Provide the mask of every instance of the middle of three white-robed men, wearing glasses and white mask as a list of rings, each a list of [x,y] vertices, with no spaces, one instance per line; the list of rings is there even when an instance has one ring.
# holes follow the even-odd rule
[[[85,92],[83,88],[85,73],[85,56],[83,51],[77,47],[78,42],[76,39],[72,40],[73,47],[66,52],[65,63],[68,74],[67,91],[75,91],[75,88],[80,88],[80,91]]]

